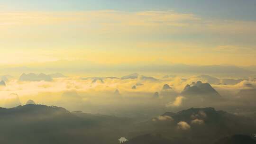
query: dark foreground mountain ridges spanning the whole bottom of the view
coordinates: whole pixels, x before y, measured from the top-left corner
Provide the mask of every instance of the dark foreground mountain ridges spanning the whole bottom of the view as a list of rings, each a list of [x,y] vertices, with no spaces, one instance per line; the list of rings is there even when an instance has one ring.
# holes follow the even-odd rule
[[[247,117],[214,108],[166,112],[158,119],[135,123],[126,117],[69,112],[65,108],[31,104],[0,108],[0,143],[117,144],[118,139],[125,136],[128,142],[124,144],[214,144],[226,142],[225,138],[221,139],[223,135],[249,134],[256,128]],[[181,121],[190,125],[190,129],[177,128]],[[248,142],[245,144],[251,144],[247,138],[235,136],[237,141],[243,139]]]

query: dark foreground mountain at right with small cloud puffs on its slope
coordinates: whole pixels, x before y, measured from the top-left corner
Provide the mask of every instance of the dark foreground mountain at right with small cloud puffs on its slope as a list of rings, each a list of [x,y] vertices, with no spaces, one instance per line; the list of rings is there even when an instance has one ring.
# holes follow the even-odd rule
[[[253,134],[256,128],[251,118],[215,108],[189,108],[179,112],[166,112],[139,125],[144,134],[162,135],[171,141],[178,139],[175,143],[168,144],[214,144],[223,135]]]

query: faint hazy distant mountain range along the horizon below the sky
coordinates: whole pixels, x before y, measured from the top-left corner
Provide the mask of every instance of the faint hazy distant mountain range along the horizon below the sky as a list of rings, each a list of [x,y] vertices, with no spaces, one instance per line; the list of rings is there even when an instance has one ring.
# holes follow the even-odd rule
[[[233,65],[188,65],[188,64],[118,64],[102,65],[97,63],[80,63],[80,61],[62,61],[65,66],[59,65],[59,61],[48,62],[38,66],[9,67],[0,69],[1,72],[44,72],[50,69],[55,72],[168,72],[168,73],[224,73],[229,75],[244,75],[256,72],[254,67],[239,67]]]

